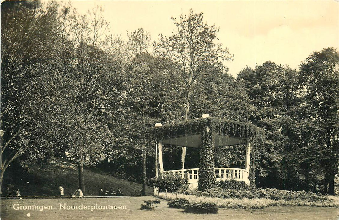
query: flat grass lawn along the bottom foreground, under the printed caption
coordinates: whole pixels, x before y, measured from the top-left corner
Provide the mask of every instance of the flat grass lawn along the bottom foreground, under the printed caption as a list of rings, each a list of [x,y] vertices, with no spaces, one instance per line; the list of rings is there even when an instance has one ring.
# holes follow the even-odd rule
[[[338,208],[331,207],[267,207],[264,209],[226,209],[221,208],[218,214],[187,214],[182,209],[169,208],[167,201],[154,210],[140,210],[144,200],[154,197],[133,198],[87,198],[87,199],[23,199],[1,200],[1,219],[338,219]],[[69,206],[87,205],[125,205],[126,209],[111,210],[64,210],[60,203]],[[47,205],[53,210],[15,210],[14,204]],[[16,205],[17,207],[18,205]],[[27,214],[30,214],[28,217]]]

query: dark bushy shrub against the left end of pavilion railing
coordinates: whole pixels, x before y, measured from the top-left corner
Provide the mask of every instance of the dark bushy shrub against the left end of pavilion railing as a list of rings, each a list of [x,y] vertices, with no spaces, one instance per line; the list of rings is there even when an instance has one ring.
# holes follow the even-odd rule
[[[162,176],[151,179],[151,185],[159,187],[160,191],[176,192],[188,188],[188,179],[181,178],[178,173],[166,172]]]

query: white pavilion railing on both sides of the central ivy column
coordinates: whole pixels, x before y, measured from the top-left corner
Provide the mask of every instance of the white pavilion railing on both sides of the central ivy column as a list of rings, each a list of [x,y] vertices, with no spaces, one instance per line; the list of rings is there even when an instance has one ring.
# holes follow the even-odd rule
[[[193,169],[179,169],[179,170],[166,170],[164,172],[173,172],[181,175],[182,178],[187,178],[188,183],[197,183],[199,176],[199,168]],[[237,181],[244,181],[250,184],[248,180],[248,171],[240,168],[214,168],[214,175],[217,181],[225,181],[235,179]]]

